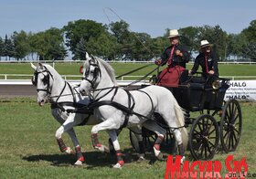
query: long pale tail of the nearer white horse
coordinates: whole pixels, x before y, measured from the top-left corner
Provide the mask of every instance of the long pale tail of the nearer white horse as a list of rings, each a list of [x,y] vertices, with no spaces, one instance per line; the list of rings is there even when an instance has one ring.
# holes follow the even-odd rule
[[[178,105],[178,103],[175,100],[175,111],[176,111],[176,124],[179,128],[179,131],[181,132],[182,137],[182,143],[184,146],[184,149],[187,149],[187,142],[188,142],[188,134],[187,129],[184,127],[184,111],[182,111],[182,108]]]

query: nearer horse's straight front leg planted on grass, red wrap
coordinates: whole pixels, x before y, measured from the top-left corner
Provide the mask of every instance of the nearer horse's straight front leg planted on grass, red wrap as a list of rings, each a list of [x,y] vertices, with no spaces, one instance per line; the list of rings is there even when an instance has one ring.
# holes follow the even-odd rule
[[[113,165],[113,168],[122,168],[124,161],[123,161],[123,153],[121,153],[120,144],[118,142],[117,133],[114,130],[108,130],[109,136],[112,140],[113,148],[115,150],[117,163]]]

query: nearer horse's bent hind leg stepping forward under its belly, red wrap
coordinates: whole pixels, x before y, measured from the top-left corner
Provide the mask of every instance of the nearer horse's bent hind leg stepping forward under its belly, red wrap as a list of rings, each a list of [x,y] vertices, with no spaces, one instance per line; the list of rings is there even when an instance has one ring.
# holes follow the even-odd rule
[[[166,133],[165,129],[159,126],[155,121],[145,121],[143,123],[143,126],[146,129],[152,132],[155,132],[157,134],[157,138],[155,140],[153,149],[154,149],[156,158],[158,160],[163,160],[163,153],[161,153],[160,151],[160,145],[165,139],[165,133]]]

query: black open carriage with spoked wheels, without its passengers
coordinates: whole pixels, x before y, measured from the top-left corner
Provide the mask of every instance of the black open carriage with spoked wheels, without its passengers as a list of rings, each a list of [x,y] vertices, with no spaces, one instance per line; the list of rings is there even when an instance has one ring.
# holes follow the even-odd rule
[[[225,153],[235,151],[240,142],[242,117],[237,100],[224,100],[229,79],[206,80],[204,83],[193,81],[197,80],[188,80],[178,87],[165,87],[173,92],[178,104],[186,111],[185,123],[190,128],[190,153],[195,160],[210,160],[219,150]],[[195,111],[199,111],[200,115],[197,118],[190,117],[190,112]],[[163,147],[176,153],[176,142],[171,130],[157,113],[155,120],[166,130]],[[152,148],[156,139],[155,133],[144,128],[142,133],[146,149]],[[138,151],[138,142],[132,131],[130,139],[133,148]]]

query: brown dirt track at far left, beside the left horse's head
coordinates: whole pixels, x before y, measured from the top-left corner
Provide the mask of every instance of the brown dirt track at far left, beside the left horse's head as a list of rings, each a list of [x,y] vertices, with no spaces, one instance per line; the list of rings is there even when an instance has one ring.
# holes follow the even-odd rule
[[[0,85],[0,98],[36,95],[36,87],[32,85]]]

